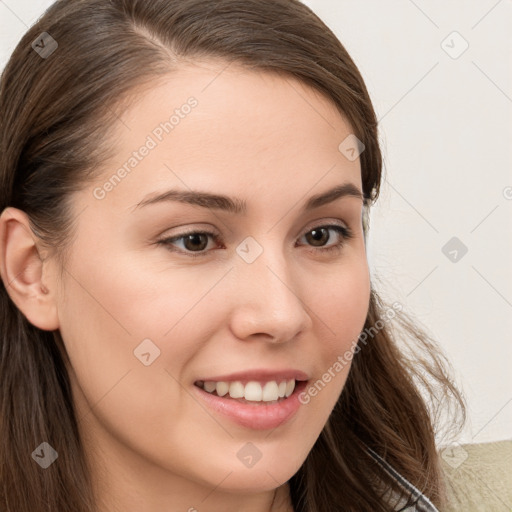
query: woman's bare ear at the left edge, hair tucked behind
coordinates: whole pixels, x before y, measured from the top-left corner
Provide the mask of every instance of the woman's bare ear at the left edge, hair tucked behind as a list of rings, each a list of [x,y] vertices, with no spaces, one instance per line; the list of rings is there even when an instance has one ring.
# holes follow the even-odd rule
[[[43,283],[43,260],[28,216],[7,207],[0,215],[0,276],[7,293],[27,320],[45,331],[59,328],[56,281]]]

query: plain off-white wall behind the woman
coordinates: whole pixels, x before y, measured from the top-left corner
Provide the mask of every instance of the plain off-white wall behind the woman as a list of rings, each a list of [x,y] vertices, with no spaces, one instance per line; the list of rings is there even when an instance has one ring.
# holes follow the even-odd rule
[[[51,3],[0,1],[0,69]],[[351,54],[380,120],[374,286],[448,355],[469,406],[460,441],[510,439],[512,2],[305,3]]]

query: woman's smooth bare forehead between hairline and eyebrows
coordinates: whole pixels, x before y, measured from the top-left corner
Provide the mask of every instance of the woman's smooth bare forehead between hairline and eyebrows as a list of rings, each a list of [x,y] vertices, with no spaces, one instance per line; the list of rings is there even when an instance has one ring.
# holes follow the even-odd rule
[[[115,156],[95,184],[112,183],[110,203],[133,206],[171,186],[268,196],[271,184],[283,199],[315,182],[360,187],[359,160],[339,150],[350,125],[328,98],[292,77],[207,61],[134,92],[112,129]]]

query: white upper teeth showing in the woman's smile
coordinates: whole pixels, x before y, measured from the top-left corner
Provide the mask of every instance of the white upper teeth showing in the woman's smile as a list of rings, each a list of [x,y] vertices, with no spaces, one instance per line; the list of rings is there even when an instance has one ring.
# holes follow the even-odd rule
[[[217,391],[217,395],[229,393],[231,398],[245,398],[254,402],[272,402],[282,397],[289,397],[295,389],[295,379],[283,380],[279,384],[275,380],[268,381],[262,386],[257,381],[249,381],[245,386],[240,381],[214,382],[204,381],[203,388],[208,393]]]

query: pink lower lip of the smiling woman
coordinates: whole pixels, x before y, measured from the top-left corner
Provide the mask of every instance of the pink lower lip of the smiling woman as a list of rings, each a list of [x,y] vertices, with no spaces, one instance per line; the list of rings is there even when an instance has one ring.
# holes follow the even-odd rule
[[[198,386],[195,392],[216,412],[227,416],[243,427],[253,430],[266,430],[279,427],[288,421],[299,409],[299,394],[306,387],[307,381],[296,382],[293,393],[286,399],[274,404],[238,402],[232,398],[212,395]]]

